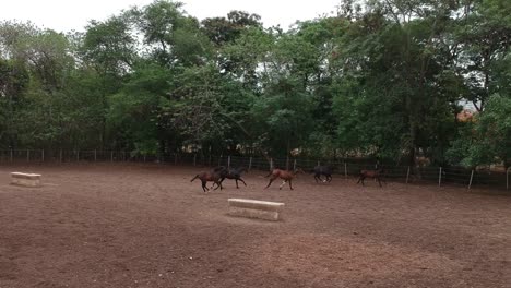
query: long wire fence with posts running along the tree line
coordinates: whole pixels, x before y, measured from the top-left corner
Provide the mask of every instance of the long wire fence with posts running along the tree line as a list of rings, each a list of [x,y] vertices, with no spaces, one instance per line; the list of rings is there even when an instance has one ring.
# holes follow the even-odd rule
[[[141,155],[124,151],[67,151],[67,149],[11,149],[0,151],[0,165],[20,163],[159,163],[173,165],[190,165],[202,167],[247,167],[249,170],[270,170],[272,167],[281,169],[300,168],[310,172],[318,165],[328,165],[333,172],[341,177],[357,177],[363,169],[375,169],[373,159],[342,158],[342,159],[310,159],[310,158],[262,158],[250,156],[205,155],[202,153],[176,153],[170,155]],[[428,182],[472,187],[488,187],[509,190],[511,185],[511,168],[497,172],[488,170],[471,170],[464,167],[419,167],[379,165],[383,169],[383,178],[397,182]]]

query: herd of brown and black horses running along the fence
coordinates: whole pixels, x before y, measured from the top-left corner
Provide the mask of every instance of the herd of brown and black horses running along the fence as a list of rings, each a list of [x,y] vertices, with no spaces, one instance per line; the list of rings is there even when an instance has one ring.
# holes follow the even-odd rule
[[[335,170],[335,167],[333,166],[316,166],[312,170],[310,170],[311,173],[314,173],[314,180],[316,182],[331,182],[332,181],[332,173]],[[241,175],[243,172],[248,172],[248,169],[245,167],[239,167],[239,168],[227,168],[225,166],[218,166],[215,167],[209,171],[202,171],[195,175],[190,182],[193,182],[195,179],[201,180],[202,183],[202,190],[204,192],[207,192],[210,189],[223,189],[222,183],[224,182],[225,179],[230,179],[236,181],[236,188],[239,188],[238,181],[242,182],[245,185],[247,183],[245,182],[243,179],[241,179]],[[293,190],[293,179],[296,177],[297,173],[305,173],[305,171],[300,168],[297,168],[293,171],[289,170],[283,170],[283,169],[272,169],[269,175],[265,176],[265,178],[270,178],[270,181],[268,185],[264,189],[268,189],[273,181],[276,179],[282,179],[283,182],[278,187],[278,189],[282,189],[286,183],[289,184],[289,189]],[[378,180],[378,183],[381,187],[381,181],[387,183],[384,179],[382,179],[383,170],[382,169],[373,169],[373,170],[360,170],[358,175],[358,183],[361,183],[364,185],[364,180],[366,178],[371,178],[375,180]],[[321,177],[324,176],[325,179],[322,179]],[[207,188],[207,182],[213,182],[211,188]],[[216,185],[216,187],[215,187]]]

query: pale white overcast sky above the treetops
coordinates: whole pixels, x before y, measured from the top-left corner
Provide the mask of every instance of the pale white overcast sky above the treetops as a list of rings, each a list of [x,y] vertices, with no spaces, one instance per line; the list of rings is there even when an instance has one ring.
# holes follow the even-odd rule
[[[105,20],[132,5],[152,0],[1,0],[0,21],[31,21],[58,32],[83,31],[90,20]],[[283,28],[336,10],[340,0],[181,0],[188,14],[202,20],[241,10],[261,16],[264,26]]]

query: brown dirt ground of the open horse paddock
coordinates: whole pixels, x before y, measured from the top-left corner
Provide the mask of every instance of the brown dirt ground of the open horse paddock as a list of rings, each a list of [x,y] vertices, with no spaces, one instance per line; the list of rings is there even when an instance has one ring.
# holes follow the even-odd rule
[[[0,166],[0,287],[511,287],[509,194],[311,175],[263,190],[262,172],[203,193],[199,170]],[[230,217],[228,197],[284,202],[284,219]]]

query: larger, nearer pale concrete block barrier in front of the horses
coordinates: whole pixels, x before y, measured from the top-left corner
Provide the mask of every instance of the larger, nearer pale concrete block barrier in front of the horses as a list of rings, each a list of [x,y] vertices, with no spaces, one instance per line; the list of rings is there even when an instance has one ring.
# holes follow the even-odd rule
[[[229,215],[277,221],[282,219],[284,203],[249,199],[228,199]]]

